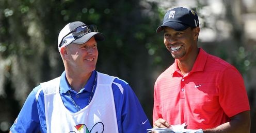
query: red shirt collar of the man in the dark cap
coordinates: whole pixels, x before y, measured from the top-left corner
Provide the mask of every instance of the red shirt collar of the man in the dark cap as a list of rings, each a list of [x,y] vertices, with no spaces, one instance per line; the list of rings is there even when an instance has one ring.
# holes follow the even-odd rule
[[[199,53],[197,55],[197,59],[194,63],[192,70],[190,71],[190,73],[196,72],[196,71],[203,71],[206,60],[207,60],[207,56],[208,56],[208,54],[202,48],[199,48]],[[180,73],[177,59],[175,59],[175,61],[174,61],[173,71],[171,73],[173,74],[174,72]]]

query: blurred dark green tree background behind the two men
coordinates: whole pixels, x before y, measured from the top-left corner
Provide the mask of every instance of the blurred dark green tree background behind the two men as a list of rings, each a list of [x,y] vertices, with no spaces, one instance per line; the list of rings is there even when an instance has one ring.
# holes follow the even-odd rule
[[[243,75],[256,132],[255,0],[0,0],[0,132],[9,130],[34,87],[64,70],[57,38],[73,21],[95,24],[105,35],[97,70],[130,83],[152,123],[154,82],[174,61],[155,30],[178,6],[198,13],[199,47]]]

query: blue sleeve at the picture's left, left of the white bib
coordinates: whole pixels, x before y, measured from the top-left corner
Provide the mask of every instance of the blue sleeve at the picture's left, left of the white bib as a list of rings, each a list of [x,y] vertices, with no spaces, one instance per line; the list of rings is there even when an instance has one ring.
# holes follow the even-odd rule
[[[41,88],[41,87],[40,87]],[[39,87],[31,91],[17,117],[15,122],[10,128],[14,132],[38,132],[40,129],[36,92]]]

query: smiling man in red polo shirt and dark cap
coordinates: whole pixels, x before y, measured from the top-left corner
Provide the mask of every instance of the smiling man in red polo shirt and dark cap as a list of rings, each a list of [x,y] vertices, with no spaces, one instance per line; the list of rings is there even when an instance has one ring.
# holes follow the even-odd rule
[[[155,82],[153,125],[187,124],[203,132],[250,132],[250,107],[242,75],[198,48],[197,14],[174,8],[164,17],[164,44],[175,62]]]

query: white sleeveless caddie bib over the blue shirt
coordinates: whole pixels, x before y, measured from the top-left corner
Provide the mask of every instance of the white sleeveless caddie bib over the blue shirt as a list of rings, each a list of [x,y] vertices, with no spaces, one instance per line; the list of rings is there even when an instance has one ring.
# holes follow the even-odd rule
[[[60,77],[41,83],[47,132],[118,132],[112,83],[115,77],[97,72],[94,96],[85,108],[71,113],[59,94]]]

